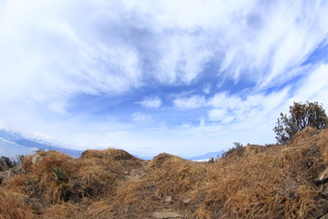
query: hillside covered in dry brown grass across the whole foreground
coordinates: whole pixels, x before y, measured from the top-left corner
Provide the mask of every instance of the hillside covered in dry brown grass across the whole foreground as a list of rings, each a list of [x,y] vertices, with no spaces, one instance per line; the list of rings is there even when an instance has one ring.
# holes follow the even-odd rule
[[[214,163],[40,151],[0,177],[0,218],[327,218],[328,130]]]

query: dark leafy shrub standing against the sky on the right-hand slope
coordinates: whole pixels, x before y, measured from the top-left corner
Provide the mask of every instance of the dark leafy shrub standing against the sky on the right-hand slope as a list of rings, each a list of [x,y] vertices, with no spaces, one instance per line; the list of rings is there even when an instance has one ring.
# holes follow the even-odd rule
[[[323,110],[323,105],[319,105],[318,102],[306,101],[305,104],[294,102],[294,105],[290,106],[289,112],[288,117],[281,113],[277,126],[273,129],[279,144],[287,143],[295,133],[308,126],[317,130],[323,130],[327,127],[327,115]]]

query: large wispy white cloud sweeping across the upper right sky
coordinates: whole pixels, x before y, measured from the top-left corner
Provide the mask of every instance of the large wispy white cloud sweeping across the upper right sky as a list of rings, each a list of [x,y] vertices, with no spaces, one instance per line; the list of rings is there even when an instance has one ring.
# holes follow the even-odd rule
[[[169,36],[162,35],[161,49],[167,51],[162,53],[162,71],[156,75],[162,82],[174,83],[182,77],[183,82],[190,83],[200,74],[205,60],[219,56],[220,73],[227,71],[228,78],[237,81],[247,76],[262,87],[282,84],[295,76],[291,69],[313,52],[328,31],[328,5],[323,1],[124,3],[130,10],[152,17],[147,24],[155,33],[171,31]],[[208,52],[200,56],[204,49]],[[183,51],[200,56],[193,67],[198,70],[187,78],[176,69],[180,60],[192,63],[184,59]]]

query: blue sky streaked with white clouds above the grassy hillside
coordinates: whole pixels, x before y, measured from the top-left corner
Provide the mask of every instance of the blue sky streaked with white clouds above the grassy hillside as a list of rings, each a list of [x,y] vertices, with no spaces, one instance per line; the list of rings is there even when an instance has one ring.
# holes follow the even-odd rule
[[[0,128],[194,156],[328,109],[328,1],[0,0]]]

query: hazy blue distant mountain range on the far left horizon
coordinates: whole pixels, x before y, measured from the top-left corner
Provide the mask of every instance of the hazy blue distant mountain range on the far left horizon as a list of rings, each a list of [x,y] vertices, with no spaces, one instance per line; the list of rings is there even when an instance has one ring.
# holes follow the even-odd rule
[[[30,154],[38,150],[60,151],[69,156],[78,158],[83,151],[62,148],[56,144],[37,140],[26,139],[19,132],[0,130],[0,156],[13,156],[17,152],[20,154]],[[17,153],[14,154],[17,155]]]

